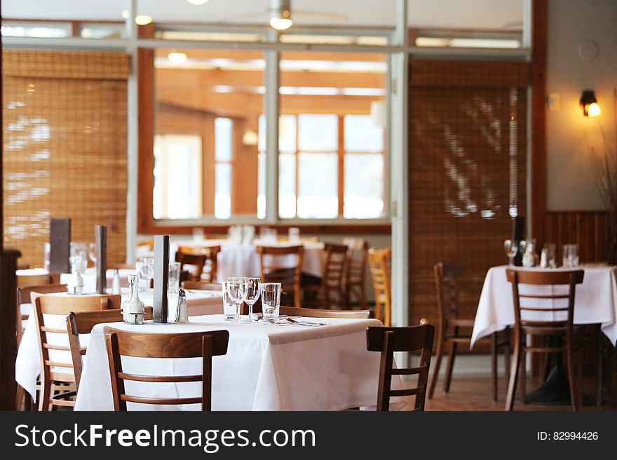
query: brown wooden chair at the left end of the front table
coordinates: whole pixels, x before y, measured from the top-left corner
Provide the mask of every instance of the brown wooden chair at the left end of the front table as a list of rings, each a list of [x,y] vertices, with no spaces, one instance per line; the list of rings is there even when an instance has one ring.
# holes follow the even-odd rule
[[[152,307],[146,307],[146,319],[152,319]],[[73,373],[75,375],[75,391],[79,391],[83,359],[86,347],[81,347],[80,334],[89,334],[92,328],[101,323],[120,323],[124,321],[122,309],[101,310],[97,312],[71,312],[67,317],[67,330],[69,331],[69,344],[71,357],[73,358]]]

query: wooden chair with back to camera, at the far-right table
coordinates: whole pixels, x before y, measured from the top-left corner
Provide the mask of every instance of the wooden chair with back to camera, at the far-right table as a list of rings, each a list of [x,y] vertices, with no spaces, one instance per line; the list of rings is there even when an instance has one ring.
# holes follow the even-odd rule
[[[526,353],[565,353],[567,358],[568,379],[570,383],[570,398],[572,409],[578,410],[581,405],[581,399],[578,390],[582,391],[582,366],[581,359],[578,359],[578,377],[577,384],[574,370],[574,351],[582,352],[582,326],[574,326],[574,298],[576,296],[576,285],[583,282],[585,272],[583,270],[568,270],[560,272],[536,272],[526,270],[515,270],[512,268],[506,269],[506,277],[512,283],[512,295],[514,300],[514,359],[512,370],[510,370],[510,382],[508,384],[508,396],[506,397],[506,410],[513,410],[514,396],[516,392],[517,379],[519,368],[523,366],[521,386],[522,386],[522,401],[524,403],[525,393],[525,354]],[[555,294],[555,288],[550,289],[547,294],[529,294],[521,293],[519,290],[520,284],[533,286],[568,286],[567,293]],[[524,305],[521,305],[521,300],[524,300]],[[550,300],[551,305],[540,305],[538,301]],[[564,301],[567,300],[567,305]],[[530,305],[531,304],[531,305]],[[524,312],[524,314],[522,314]],[[538,312],[547,312],[560,316],[559,320],[538,320],[533,319],[534,314]],[[542,342],[540,346],[527,343],[527,336],[539,337]],[[544,339],[550,338],[552,341],[545,342]],[[565,344],[563,340],[565,339]],[[576,343],[578,342],[578,343]]]

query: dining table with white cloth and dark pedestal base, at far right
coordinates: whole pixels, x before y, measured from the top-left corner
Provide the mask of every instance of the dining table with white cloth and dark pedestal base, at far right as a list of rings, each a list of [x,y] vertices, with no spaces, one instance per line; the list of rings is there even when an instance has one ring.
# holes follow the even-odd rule
[[[514,301],[512,285],[506,279],[506,269],[517,270],[583,270],[583,284],[576,286],[574,299],[574,324],[599,324],[602,333],[608,337],[613,346],[617,345],[617,267],[600,264],[581,265],[571,268],[525,268],[501,265],[491,267],[484,279],[480,302],[471,334],[470,347],[487,335],[514,326]],[[559,294],[567,293],[568,286],[529,286],[520,285],[524,294]],[[536,299],[535,307],[553,305],[556,300]],[[550,303],[546,303],[550,302]],[[556,321],[565,312],[531,312],[533,319]],[[567,379],[562,367],[561,354],[552,354],[552,368],[543,385],[534,393],[526,396],[527,402],[546,404],[569,404],[570,396]]]

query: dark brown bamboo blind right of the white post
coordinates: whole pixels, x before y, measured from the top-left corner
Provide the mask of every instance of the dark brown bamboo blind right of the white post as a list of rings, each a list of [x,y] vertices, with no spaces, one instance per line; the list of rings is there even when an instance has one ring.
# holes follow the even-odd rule
[[[409,323],[438,321],[438,262],[463,269],[460,312],[473,319],[512,216],[526,214],[529,67],[418,60],[410,76]]]

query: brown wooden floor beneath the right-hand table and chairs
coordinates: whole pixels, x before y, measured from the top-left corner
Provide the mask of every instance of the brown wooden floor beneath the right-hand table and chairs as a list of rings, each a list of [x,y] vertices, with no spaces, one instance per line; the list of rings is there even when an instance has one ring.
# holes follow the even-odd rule
[[[617,410],[617,388],[613,381],[612,397],[606,398],[601,406],[585,405],[582,410]],[[528,377],[527,391],[533,391],[538,386],[536,379]],[[585,379],[585,394],[594,396],[593,379]],[[506,380],[499,382],[499,400],[491,401],[491,379],[452,379],[449,393],[444,393],[442,381],[435,388],[433,399],[427,399],[425,410],[503,410],[506,404]],[[515,402],[514,410],[571,410],[569,405],[531,405]]]

